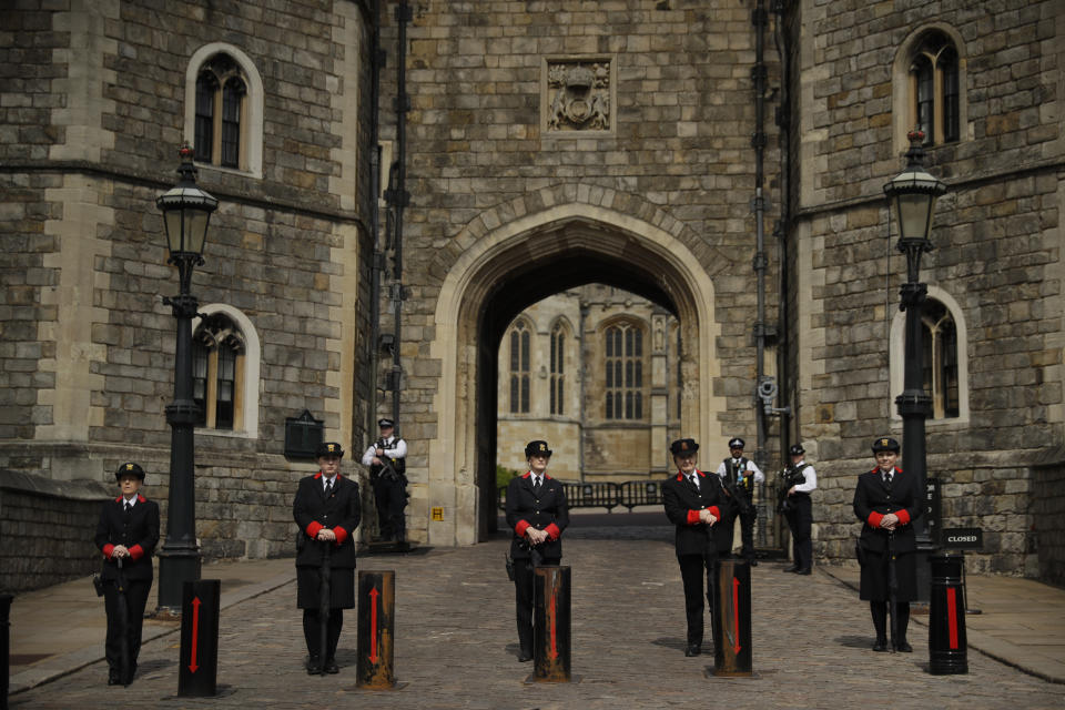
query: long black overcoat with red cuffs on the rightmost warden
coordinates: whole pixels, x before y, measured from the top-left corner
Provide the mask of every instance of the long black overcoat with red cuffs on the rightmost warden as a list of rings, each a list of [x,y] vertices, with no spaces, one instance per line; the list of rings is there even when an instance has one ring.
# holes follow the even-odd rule
[[[899,516],[899,526],[892,535],[895,552],[895,574],[899,579],[897,601],[917,598],[916,565],[913,552],[917,538],[913,521],[921,517],[923,500],[915,476],[894,469],[891,487],[884,484],[879,468],[858,477],[854,488],[854,515],[862,521],[859,545],[862,548],[862,580],[860,597],[866,600],[885,601],[888,594],[888,530],[880,521],[889,513]]]

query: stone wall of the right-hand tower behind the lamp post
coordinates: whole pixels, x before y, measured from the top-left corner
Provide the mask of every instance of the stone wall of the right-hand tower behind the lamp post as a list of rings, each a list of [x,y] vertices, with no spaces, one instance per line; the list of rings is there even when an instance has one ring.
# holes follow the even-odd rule
[[[956,418],[929,420],[929,475],[943,480],[944,525],[985,531],[973,568],[1035,574],[1030,466],[1061,444],[1063,422],[1065,143],[1061,51],[1045,41],[1058,31],[1061,6],[865,9],[802,4],[812,44],[801,69],[795,368],[800,434],[813,443],[821,487],[815,505],[826,508],[815,514],[818,554],[850,556],[850,500],[856,475],[872,466],[870,443],[901,438],[894,397],[906,274],[882,186],[904,165],[896,119],[907,110],[900,95],[909,64],[899,53],[922,29],[939,28],[960,38],[966,121],[960,141],[929,151],[926,165],[950,193],[936,207],[921,281],[956,305],[968,402]]]

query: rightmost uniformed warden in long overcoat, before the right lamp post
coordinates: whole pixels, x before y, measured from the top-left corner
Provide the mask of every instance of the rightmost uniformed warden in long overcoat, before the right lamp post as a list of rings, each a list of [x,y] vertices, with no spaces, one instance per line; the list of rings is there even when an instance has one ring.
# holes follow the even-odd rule
[[[876,630],[874,651],[888,650],[889,580],[894,557],[895,578],[895,650],[913,651],[906,642],[910,602],[917,598],[917,549],[913,521],[921,516],[921,490],[914,476],[895,466],[899,442],[880,438],[873,442],[876,466],[858,477],[854,489],[854,515],[862,521],[859,539],[862,581],[861,599],[869,601]]]

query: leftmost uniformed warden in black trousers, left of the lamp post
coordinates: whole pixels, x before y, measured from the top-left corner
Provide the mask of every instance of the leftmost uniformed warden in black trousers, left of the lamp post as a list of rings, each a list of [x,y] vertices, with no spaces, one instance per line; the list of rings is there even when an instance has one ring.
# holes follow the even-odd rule
[[[144,606],[152,588],[152,551],[159,542],[159,506],[140,495],[144,469],[129,463],[114,473],[121,495],[108,500],[100,510],[100,523],[94,538],[103,552],[103,602],[108,612],[108,637],[104,656],[108,659],[108,684],[128,686],[136,672],[136,657],[141,652],[141,626]],[[119,570],[122,560],[122,570]],[[122,628],[119,621],[120,577],[124,592],[129,640],[129,667],[122,674]]]

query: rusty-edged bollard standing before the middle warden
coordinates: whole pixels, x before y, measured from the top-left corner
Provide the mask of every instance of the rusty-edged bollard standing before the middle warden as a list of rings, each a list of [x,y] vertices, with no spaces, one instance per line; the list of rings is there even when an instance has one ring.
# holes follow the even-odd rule
[[[532,662],[529,680],[566,683],[570,676],[569,567],[532,570]]]

